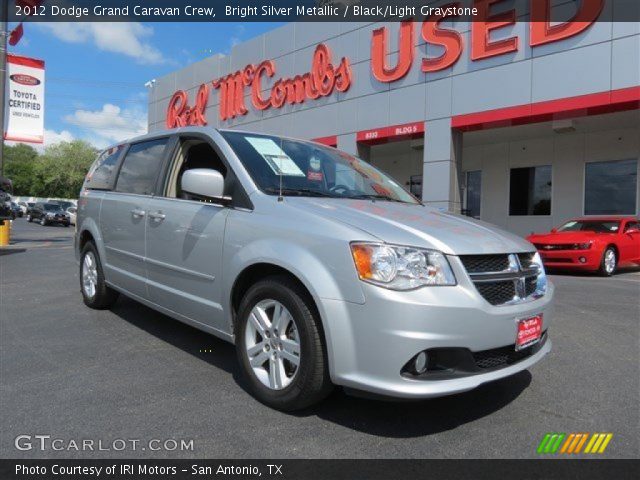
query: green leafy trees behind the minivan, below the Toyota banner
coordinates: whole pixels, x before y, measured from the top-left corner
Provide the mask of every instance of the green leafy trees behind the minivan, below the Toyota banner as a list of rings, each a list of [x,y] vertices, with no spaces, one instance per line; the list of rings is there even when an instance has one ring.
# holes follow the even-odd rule
[[[5,176],[16,196],[78,198],[96,154],[83,140],[51,145],[41,155],[28,145],[5,147]]]

